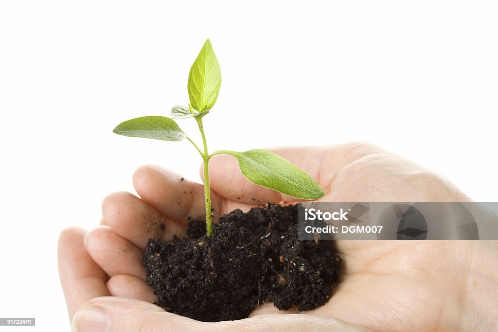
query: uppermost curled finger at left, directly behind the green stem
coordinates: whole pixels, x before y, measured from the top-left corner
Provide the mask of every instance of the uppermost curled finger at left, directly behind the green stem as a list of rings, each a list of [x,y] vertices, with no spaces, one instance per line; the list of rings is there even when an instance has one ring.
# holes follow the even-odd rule
[[[135,171],[133,185],[142,200],[168,218],[178,221],[206,218],[204,187],[199,183],[157,166],[147,165]],[[218,211],[219,198],[212,195],[211,201],[212,208]]]

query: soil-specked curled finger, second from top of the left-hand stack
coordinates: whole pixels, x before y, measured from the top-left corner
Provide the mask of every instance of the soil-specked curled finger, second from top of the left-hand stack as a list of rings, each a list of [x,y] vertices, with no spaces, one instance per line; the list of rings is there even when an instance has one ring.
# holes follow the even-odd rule
[[[102,215],[101,224],[141,249],[150,237],[171,239],[173,234],[182,235],[186,229],[184,222],[165,220],[147,203],[126,192],[107,196],[102,203]]]

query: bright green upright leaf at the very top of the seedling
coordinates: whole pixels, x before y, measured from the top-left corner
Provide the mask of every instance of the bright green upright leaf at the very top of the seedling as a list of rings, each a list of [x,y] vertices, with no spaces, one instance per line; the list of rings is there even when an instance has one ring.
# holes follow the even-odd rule
[[[188,95],[196,111],[211,110],[218,99],[221,87],[221,70],[213,47],[206,39],[188,74]]]

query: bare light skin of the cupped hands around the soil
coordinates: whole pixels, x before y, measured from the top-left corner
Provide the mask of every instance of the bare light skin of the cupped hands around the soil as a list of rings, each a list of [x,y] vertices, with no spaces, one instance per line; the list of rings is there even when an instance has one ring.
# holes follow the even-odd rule
[[[320,201],[470,201],[444,178],[370,144],[272,151],[318,181],[327,194]],[[247,181],[231,156],[213,157],[210,180],[215,219],[255,202],[295,202]],[[246,320],[220,323],[164,312],[151,304],[141,250],[147,238],[182,235],[188,217],[203,217],[203,187],[152,165],[140,167],[133,183],[140,198],[112,194],[99,227],[71,227],[60,235],[59,273],[73,331],[497,329],[498,244],[482,240],[335,241],[344,259],[340,283],[326,305],[308,312],[267,303]]]

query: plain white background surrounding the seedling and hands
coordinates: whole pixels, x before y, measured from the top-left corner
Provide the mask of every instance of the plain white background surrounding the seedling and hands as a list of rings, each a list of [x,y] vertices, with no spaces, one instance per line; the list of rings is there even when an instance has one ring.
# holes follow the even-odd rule
[[[60,230],[139,165],[199,180],[188,142],[111,131],[186,104],[206,38],[211,150],[364,140],[497,201],[495,1],[171,2],[0,1],[0,317],[68,330]]]

